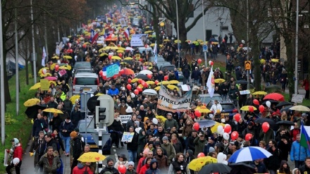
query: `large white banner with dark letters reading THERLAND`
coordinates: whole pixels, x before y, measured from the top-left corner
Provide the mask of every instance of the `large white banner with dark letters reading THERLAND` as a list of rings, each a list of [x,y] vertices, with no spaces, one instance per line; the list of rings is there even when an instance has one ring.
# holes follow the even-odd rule
[[[185,112],[190,109],[190,101],[192,99],[192,89],[186,92],[186,94],[182,95],[182,97],[175,97],[171,95],[170,92],[161,85],[161,89],[159,89],[159,101],[157,104],[157,108],[160,108],[164,111],[169,112]]]

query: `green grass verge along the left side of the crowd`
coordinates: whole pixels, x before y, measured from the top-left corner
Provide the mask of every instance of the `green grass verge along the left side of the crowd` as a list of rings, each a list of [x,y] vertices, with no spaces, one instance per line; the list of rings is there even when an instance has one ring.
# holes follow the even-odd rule
[[[29,66],[30,70],[30,66]],[[30,71],[31,72],[31,71]],[[20,139],[23,149],[27,147],[32,130],[32,123],[24,113],[26,107],[24,102],[35,96],[35,91],[28,89],[33,85],[33,80],[30,79],[30,85],[26,85],[25,69],[19,71],[20,80],[20,95],[19,95],[19,114],[16,116],[16,75],[8,80],[8,87],[11,94],[11,103],[6,104],[6,141],[4,146],[0,146],[1,163],[4,162],[4,149],[11,148],[10,140],[14,137]],[[25,151],[24,151],[25,153]],[[6,173],[5,167],[0,165],[0,173]]]

